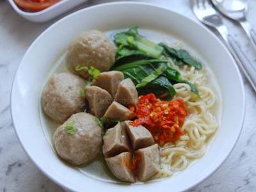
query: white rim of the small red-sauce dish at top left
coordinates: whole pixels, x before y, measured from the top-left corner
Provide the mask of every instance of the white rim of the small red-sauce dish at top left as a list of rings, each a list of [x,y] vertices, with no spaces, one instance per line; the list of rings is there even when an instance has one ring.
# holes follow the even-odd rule
[[[45,22],[58,17],[62,13],[65,13],[88,0],[61,0],[60,2],[49,6],[49,8],[46,8],[40,12],[25,12],[21,10],[13,0],[8,1],[12,5],[15,12],[17,12],[21,17],[24,17],[32,22]]]

